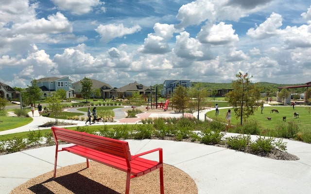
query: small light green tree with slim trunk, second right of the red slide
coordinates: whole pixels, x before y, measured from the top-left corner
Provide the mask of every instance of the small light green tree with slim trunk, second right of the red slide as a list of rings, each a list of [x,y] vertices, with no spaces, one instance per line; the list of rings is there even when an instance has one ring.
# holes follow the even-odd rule
[[[203,87],[202,83],[195,84],[195,86],[190,89],[190,97],[194,100],[194,105],[198,111],[199,119],[199,112],[204,108],[202,101],[205,97],[207,97],[207,90]]]

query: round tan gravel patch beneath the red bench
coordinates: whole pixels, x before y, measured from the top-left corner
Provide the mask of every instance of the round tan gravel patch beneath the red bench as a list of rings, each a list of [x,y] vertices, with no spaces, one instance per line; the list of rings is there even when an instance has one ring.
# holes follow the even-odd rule
[[[126,173],[98,162],[66,166],[28,180],[10,194],[124,194]],[[166,194],[197,194],[192,178],[171,165],[164,164],[164,191]],[[132,178],[131,194],[159,194],[159,171]]]

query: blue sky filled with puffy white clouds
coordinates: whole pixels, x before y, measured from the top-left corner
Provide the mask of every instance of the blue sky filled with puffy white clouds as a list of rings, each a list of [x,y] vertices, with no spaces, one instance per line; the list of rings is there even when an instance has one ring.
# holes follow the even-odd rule
[[[0,81],[311,81],[309,0],[0,0]]]

